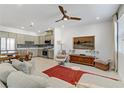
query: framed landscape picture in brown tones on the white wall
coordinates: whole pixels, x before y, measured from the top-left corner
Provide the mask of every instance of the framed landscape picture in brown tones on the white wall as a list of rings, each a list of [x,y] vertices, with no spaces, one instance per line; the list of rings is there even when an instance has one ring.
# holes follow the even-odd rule
[[[95,36],[83,36],[73,38],[74,49],[95,49]]]

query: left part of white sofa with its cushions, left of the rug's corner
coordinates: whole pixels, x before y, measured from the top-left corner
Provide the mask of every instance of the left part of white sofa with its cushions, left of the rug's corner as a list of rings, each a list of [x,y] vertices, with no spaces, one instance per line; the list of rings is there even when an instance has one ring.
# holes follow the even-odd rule
[[[16,65],[15,65],[16,64]],[[19,63],[14,63],[14,67],[20,67]],[[0,64],[0,88],[73,88],[74,85],[63,80],[49,77],[46,74],[31,75],[23,72],[23,69],[16,70],[9,63]],[[29,64],[28,64],[29,66]],[[25,66],[22,66],[23,68]],[[6,74],[7,73],[7,74]]]

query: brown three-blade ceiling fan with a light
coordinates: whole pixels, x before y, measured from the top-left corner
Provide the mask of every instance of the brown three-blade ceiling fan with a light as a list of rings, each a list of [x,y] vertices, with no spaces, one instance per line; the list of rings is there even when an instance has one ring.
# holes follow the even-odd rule
[[[59,7],[59,10],[61,11],[63,17],[55,22],[59,22],[59,21],[62,21],[62,20],[81,20],[81,18],[79,17],[72,17],[72,16],[68,16],[66,13],[67,11],[64,10],[64,8],[62,6],[58,6]]]

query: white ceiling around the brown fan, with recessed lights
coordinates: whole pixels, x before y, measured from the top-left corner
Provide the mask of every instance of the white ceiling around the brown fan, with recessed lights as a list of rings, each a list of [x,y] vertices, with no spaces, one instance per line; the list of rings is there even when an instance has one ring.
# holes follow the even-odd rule
[[[112,15],[117,11],[119,5],[116,4],[65,4],[62,5],[67,10],[68,15],[81,17],[81,21],[61,21],[55,23],[62,17],[58,5],[54,4],[23,4],[23,5],[0,5],[0,25],[13,27],[38,33],[48,28],[77,26],[97,23],[112,19]],[[100,17],[100,20],[96,20]],[[34,26],[30,27],[30,23]]]

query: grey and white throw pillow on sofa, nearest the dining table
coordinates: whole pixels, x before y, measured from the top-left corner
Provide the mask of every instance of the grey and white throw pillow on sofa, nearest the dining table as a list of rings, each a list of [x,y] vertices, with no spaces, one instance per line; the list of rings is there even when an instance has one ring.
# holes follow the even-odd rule
[[[17,60],[12,62],[12,65],[19,71],[23,71],[26,74],[31,74],[32,64],[29,62],[21,62]]]

